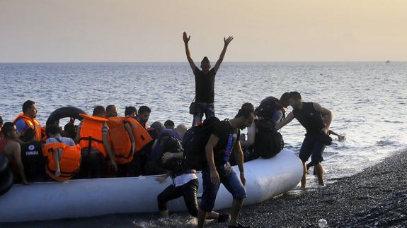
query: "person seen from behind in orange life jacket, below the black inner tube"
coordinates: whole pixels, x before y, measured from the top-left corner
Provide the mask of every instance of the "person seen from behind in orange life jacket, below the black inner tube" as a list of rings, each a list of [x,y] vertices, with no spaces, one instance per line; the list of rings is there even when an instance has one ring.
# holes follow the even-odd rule
[[[93,115],[80,114],[84,120],[79,124],[75,142],[81,145],[81,168],[77,177],[79,179],[101,178],[105,158],[117,172],[115,155],[110,148],[109,127],[106,124],[105,108],[97,106]]]

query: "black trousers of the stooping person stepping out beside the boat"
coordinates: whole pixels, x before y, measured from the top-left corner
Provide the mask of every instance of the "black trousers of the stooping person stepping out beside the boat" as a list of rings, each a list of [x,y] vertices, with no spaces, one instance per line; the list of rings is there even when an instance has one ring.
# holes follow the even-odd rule
[[[159,203],[159,210],[167,210],[167,202],[183,196],[185,205],[188,208],[188,212],[193,217],[197,217],[198,205],[197,205],[197,191],[198,191],[198,179],[188,181],[187,184],[182,186],[173,186],[171,184],[162,193],[157,196]]]

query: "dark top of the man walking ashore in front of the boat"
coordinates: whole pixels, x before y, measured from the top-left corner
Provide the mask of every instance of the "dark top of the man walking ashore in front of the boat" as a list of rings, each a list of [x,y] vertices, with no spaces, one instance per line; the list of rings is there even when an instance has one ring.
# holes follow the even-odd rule
[[[214,147],[214,164],[216,166],[226,164],[229,161],[234,143],[239,140],[240,130],[231,127],[229,121],[220,121],[214,126],[212,131],[214,136],[219,138],[217,145]]]

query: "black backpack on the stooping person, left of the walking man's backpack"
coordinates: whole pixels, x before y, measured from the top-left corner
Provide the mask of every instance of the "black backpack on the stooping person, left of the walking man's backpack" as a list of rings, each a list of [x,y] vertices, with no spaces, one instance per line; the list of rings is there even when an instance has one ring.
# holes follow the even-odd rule
[[[156,152],[156,154],[154,155],[154,160],[156,160],[157,166],[161,169],[176,172],[183,167],[182,158],[173,157],[169,160],[166,160],[166,162],[163,162],[161,158],[163,157],[164,152],[177,153],[182,151],[183,148],[177,138],[169,134],[163,134],[159,137],[153,149],[153,152]]]

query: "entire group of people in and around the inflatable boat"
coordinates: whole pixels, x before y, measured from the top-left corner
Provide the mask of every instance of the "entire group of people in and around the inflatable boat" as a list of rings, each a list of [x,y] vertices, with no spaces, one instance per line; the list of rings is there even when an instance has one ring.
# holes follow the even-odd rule
[[[299,151],[304,167],[301,188],[306,187],[309,157],[322,188],[322,152],[331,143],[329,134],[344,139],[330,130],[330,110],[316,102],[302,102],[299,92],[285,92],[280,99],[265,97],[256,109],[244,103],[232,119],[220,121],[215,117],[214,78],[231,40],[233,37],[224,38],[213,68],[204,57],[200,69],[190,56],[190,36],[183,33],[185,53],[195,76],[195,98],[190,104],[193,126],[189,129],[183,124],[175,126],[171,120],[148,126],[151,109],[147,106],[138,111],[136,107],[125,107],[124,116],[117,116],[113,104],[96,106],[92,115],[80,114],[78,126],[71,119],[63,129],[59,121],[47,122],[44,128],[36,119],[35,102],[24,102],[22,114],[0,125],[0,153],[10,160],[16,182],[164,174],[157,181],[171,176],[173,184],[157,196],[161,215],[168,215],[169,200],[182,196],[190,215],[198,218],[198,227],[204,226],[205,219],[229,220],[229,227],[250,227],[238,222],[246,198],[243,162],[277,155],[284,147],[278,130],[297,119],[306,129]],[[289,105],[293,111],[287,114]],[[248,128],[247,137],[240,132],[244,128]],[[239,174],[231,169],[235,164]],[[197,170],[202,170],[203,186],[199,205]],[[233,196],[230,214],[213,211],[220,184]]]

